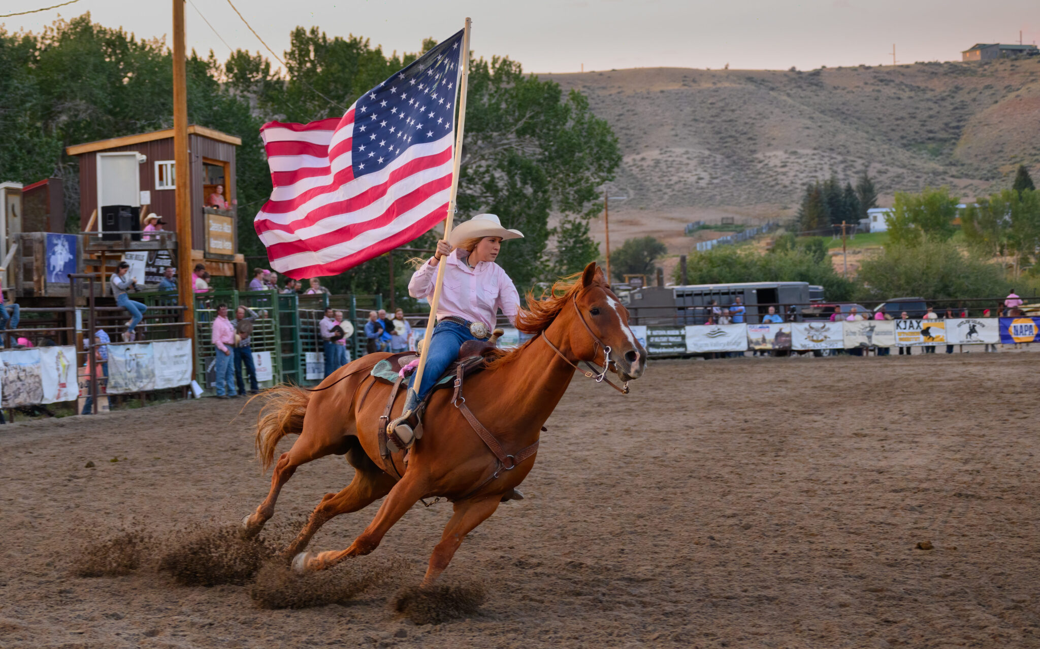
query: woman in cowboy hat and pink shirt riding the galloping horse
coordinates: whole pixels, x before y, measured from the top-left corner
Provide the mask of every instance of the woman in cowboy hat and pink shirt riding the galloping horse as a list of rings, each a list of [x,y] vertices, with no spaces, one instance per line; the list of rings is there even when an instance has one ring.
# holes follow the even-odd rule
[[[415,441],[416,410],[444,371],[459,359],[466,341],[485,340],[495,328],[498,309],[516,323],[520,295],[502,267],[495,264],[502,241],[522,239],[517,229],[502,227],[494,214],[477,214],[451,229],[447,240],[437,242],[437,252],[422,264],[408,282],[408,294],[416,299],[433,297],[437,267],[445,259],[444,287],[437,304],[437,326],[430,339],[422,384],[416,394],[413,373],[399,417],[387,427],[389,442],[408,449]]]

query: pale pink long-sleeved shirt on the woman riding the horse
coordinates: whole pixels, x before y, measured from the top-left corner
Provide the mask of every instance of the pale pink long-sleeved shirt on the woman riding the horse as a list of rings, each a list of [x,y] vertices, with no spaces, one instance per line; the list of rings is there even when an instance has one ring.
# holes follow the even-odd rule
[[[470,268],[466,264],[467,255],[465,250],[456,249],[447,256],[437,318],[456,316],[470,322],[483,322],[493,329],[495,315],[501,308],[510,323],[516,324],[520,295],[513,280],[494,262],[479,262],[476,268]],[[416,299],[433,297],[436,279],[437,261],[432,259],[412,275],[408,294]]]

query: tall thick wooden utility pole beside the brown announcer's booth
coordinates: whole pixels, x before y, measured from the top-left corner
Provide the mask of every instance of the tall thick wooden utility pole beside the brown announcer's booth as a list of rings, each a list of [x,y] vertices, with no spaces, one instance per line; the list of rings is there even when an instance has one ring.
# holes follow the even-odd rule
[[[174,173],[177,184],[177,294],[184,306],[184,337],[194,341],[194,287],[191,286],[191,187],[188,162],[188,88],[185,70],[184,0],[174,0]],[[194,358],[194,354],[191,355]],[[192,369],[193,373],[193,369]]]

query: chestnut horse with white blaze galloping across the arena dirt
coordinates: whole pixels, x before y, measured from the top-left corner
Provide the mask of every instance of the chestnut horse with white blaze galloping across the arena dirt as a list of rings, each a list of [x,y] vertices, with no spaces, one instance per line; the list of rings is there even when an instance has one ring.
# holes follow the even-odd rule
[[[527,304],[528,309],[517,316],[516,326],[535,337],[512,351],[492,350],[488,368],[465,378],[463,385],[465,405],[505,454],[517,454],[538,441],[542,425],[574,377],[577,361],[601,364],[604,374],[613,369],[624,381],[639,378],[646,363],[646,351],[628,326],[627,309],[595,264],[586,267],[579,280],[556,282],[540,300],[528,294]],[[264,468],[270,465],[279,439],[294,433],[300,437],[279,457],[270,492],[242,524],[246,535],[260,532],[274,514],[279,491],[297,466],[330,454],[345,454],[356,469],[354,480],[339,493],[321,498],[285,556],[295,556],[293,567],[304,571],[367,555],[418,499],[444,496],[454,503],[454,514],[430,558],[422,580],[428,586],[447,567],[466,535],[523,482],[535,456],[505,470],[453,405],[452,390],[439,389],[431,395],[424,433],[412,448],[407,469],[400,452],[382,458],[378,429],[391,386],[374,382],[368,371],[385,357],[359,358],[327,377],[315,391],[281,386],[268,393],[271,396],[261,410],[256,436]],[[330,389],[321,389],[327,385]],[[397,399],[393,416],[402,405],[404,398]],[[348,548],[303,552],[331,518],[356,512],[383,496],[387,498],[375,518]]]

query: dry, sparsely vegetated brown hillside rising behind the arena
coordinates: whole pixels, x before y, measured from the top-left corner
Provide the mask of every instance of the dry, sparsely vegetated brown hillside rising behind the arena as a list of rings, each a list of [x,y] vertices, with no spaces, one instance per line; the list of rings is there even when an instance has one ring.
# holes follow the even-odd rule
[[[619,235],[659,234],[673,251],[682,222],[790,214],[804,184],[832,170],[846,180],[867,167],[883,205],[925,185],[970,198],[1010,185],[1020,162],[1040,177],[1040,57],[544,78],[586,92],[621,140],[615,189],[631,198]]]

